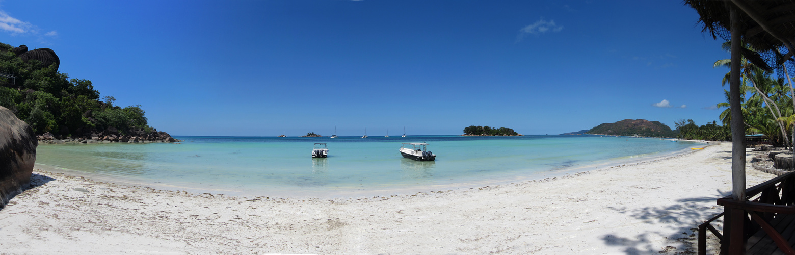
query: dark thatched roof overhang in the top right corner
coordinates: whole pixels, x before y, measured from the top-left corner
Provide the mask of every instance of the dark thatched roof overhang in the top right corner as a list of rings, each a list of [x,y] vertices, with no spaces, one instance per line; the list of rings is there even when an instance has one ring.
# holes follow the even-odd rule
[[[730,41],[731,18],[729,8],[737,8],[743,28],[743,42],[755,52],[744,51],[743,56],[758,67],[770,70],[793,60],[795,52],[795,2],[792,0],[685,0],[698,12],[704,32],[713,38]],[[761,63],[764,62],[764,63]],[[795,60],[789,61],[787,71],[795,74]],[[779,70],[781,71],[781,70]]]

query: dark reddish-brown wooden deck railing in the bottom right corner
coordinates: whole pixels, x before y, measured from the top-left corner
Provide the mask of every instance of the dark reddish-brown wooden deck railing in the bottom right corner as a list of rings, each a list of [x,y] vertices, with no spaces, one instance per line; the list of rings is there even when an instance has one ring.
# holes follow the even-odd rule
[[[766,253],[778,247],[785,254],[795,255],[788,240],[795,235],[795,224],[785,221],[786,217],[795,218],[795,172],[750,187],[746,195],[746,201],[737,201],[731,195],[718,199],[724,211],[699,226],[698,253],[707,253],[707,230],[710,230],[720,241],[720,254]],[[723,217],[723,234],[712,226],[720,217]],[[785,230],[786,237],[781,234]],[[765,236],[773,242],[762,241]]]

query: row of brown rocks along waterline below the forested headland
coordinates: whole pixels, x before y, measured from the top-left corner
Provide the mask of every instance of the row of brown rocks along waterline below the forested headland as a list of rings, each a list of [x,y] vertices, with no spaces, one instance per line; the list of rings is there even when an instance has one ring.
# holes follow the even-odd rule
[[[106,130],[99,131],[91,130],[90,132],[83,133],[80,137],[61,137],[54,136],[52,133],[44,133],[37,137],[38,141],[48,144],[62,144],[62,143],[80,143],[80,144],[96,144],[96,143],[113,143],[113,142],[126,142],[126,143],[151,143],[151,142],[176,142],[182,141],[174,139],[169,133],[157,131],[152,129],[147,133],[143,129],[130,129],[126,135],[122,135],[113,127]]]

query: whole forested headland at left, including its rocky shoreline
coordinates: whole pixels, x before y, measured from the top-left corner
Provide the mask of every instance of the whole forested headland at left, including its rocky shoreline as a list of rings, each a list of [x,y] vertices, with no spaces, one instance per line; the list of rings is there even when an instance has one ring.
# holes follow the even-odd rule
[[[58,71],[52,49],[28,51],[0,43],[0,106],[33,128],[40,140],[91,143],[176,141],[149,126],[140,105],[116,106],[100,100],[89,79]]]

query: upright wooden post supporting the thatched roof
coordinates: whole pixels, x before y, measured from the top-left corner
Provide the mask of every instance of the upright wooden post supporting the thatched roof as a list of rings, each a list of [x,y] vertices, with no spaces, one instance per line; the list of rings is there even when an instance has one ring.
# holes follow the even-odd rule
[[[731,8],[731,78],[729,78],[729,104],[731,105],[731,196],[745,201],[745,129],[743,109],[740,105],[740,24],[736,8]]]

